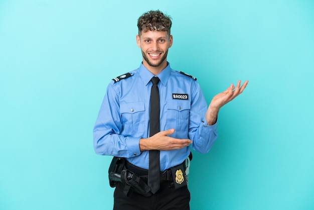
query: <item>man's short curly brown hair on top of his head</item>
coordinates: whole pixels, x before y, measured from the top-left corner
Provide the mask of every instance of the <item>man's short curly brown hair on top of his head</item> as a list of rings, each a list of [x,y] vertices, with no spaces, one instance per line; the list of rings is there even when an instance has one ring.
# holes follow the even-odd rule
[[[167,31],[170,35],[171,17],[164,15],[161,11],[148,11],[140,16],[137,20],[138,35],[141,32],[150,31]]]

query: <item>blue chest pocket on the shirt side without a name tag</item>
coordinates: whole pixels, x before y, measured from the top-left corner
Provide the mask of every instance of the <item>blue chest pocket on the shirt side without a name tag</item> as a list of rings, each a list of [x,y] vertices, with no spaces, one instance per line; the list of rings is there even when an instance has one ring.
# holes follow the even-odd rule
[[[144,132],[145,106],[144,102],[131,102],[120,104],[122,117],[122,132],[134,134]]]

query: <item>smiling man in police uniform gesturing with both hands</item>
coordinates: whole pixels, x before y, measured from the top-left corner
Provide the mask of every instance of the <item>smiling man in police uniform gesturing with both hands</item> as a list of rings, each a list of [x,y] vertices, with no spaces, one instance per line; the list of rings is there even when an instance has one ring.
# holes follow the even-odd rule
[[[196,78],[174,71],[167,62],[171,25],[160,11],[139,17],[136,43],[142,63],[110,82],[96,120],[96,153],[122,157],[114,159],[122,160],[122,166],[115,161],[110,166],[118,174],[111,181],[121,178],[113,185],[114,209],[190,209],[190,146],[201,153],[210,150],[219,109],[248,83],[231,84],[207,108]],[[118,165],[124,172],[116,171]],[[134,177],[137,182],[131,183]]]

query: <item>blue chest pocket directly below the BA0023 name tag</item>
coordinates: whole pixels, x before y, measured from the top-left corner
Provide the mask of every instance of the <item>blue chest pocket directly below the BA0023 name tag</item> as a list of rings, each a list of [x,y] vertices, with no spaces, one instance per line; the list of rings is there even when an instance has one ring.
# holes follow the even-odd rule
[[[191,103],[189,100],[167,101],[167,129],[189,131],[189,116]]]

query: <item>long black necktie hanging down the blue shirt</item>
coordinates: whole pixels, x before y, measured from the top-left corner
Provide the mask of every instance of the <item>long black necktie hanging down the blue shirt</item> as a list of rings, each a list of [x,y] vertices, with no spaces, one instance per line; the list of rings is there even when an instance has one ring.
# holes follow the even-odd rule
[[[152,77],[152,87],[150,90],[150,112],[149,112],[149,137],[160,132],[159,125],[159,89],[158,77]],[[152,193],[159,190],[160,187],[160,165],[159,165],[159,150],[149,150],[149,166],[148,166],[148,186]]]

